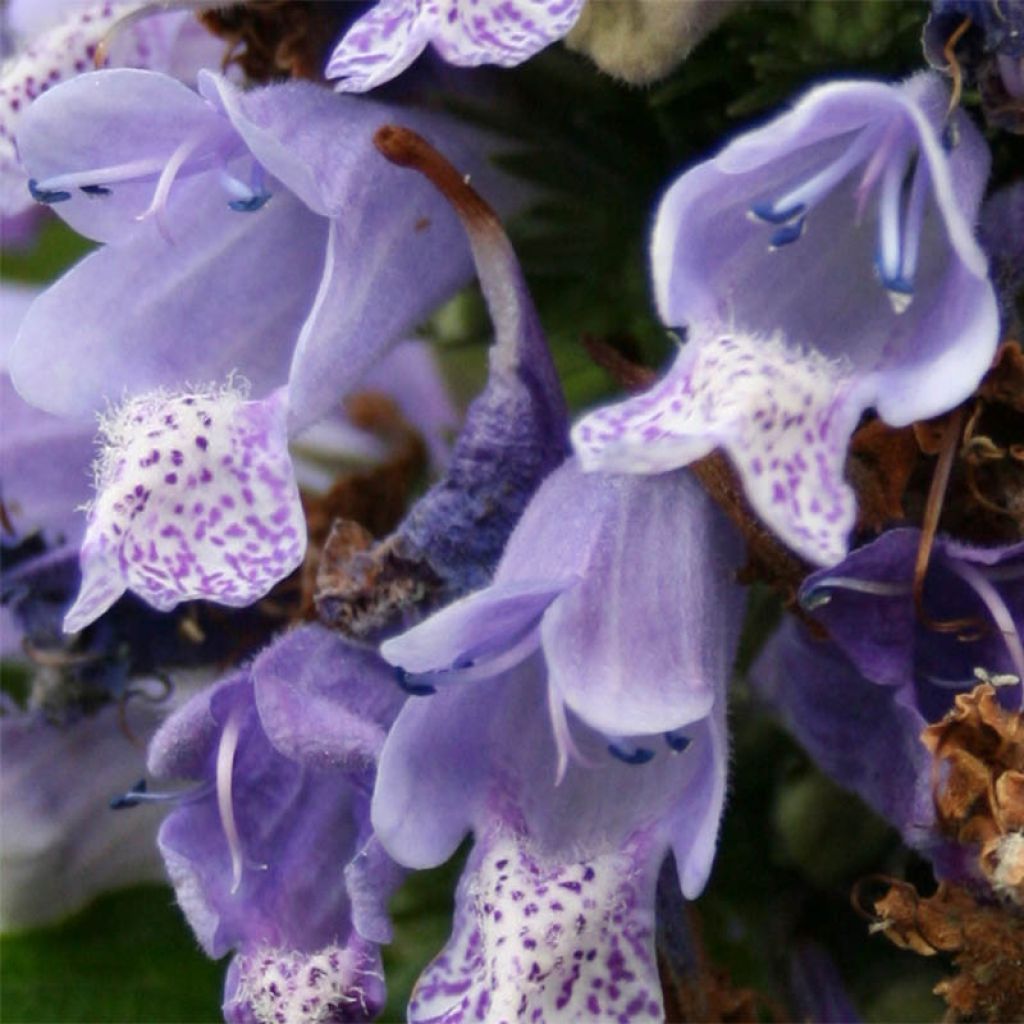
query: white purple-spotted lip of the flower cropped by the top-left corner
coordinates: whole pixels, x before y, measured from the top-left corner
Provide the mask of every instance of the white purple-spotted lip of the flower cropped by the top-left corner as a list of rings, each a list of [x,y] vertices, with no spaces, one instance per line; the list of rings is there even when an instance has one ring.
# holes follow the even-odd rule
[[[140,0],[70,4],[63,18],[27,41],[4,63],[0,71],[0,213],[14,214],[33,205],[14,145],[22,115],[57,83],[94,71],[100,41],[119,18],[141,6]],[[146,67],[150,56],[144,38],[133,38],[126,61]]]

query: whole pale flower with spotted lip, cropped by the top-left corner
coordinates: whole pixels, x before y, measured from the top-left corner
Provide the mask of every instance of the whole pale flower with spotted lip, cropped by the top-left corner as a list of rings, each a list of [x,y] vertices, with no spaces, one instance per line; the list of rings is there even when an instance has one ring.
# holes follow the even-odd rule
[[[219,66],[222,44],[190,11],[153,9],[138,17],[146,6],[140,0],[10,0],[5,5],[13,52],[4,54],[0,69],[0,217],[33,205],[17,139],[22,119],[39,96],[94,70],[97,57],[116,68],[148,68],[186,81],[200,68]]]

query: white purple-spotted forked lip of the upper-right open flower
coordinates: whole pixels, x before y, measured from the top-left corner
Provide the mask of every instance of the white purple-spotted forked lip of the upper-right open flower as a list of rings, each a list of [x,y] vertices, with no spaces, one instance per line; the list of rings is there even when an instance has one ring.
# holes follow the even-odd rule
[[[861,403],[854,379],[780,337],[720,331],[690,341],[646,394],[584,417],[587,470],[658,473],[723,447],[754,510],[798,554],[841,561],[856,519],[843,477]]]

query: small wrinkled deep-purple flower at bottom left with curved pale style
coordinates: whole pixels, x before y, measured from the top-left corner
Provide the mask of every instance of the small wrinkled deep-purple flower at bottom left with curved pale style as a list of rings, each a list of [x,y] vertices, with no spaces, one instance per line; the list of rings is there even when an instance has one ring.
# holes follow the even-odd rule
[[[203,948],[236,950],[228,1021],[368,1020],[383,1005],[377,946],[400,871],[373,840],[370,792],[400,702],[376,655],[309,627],[154,738],[151,771],[199,783],[159,842]]]

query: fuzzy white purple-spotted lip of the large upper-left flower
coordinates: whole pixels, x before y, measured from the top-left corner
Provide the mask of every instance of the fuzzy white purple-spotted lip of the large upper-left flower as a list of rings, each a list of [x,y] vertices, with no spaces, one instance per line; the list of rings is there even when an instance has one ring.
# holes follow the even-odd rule
[[[133,398],[101,425],[82,543],[76,632],[132,590],[161,611],[203,598],[242,606],[302,560],[306,528],[288,454],[284,389]]]

